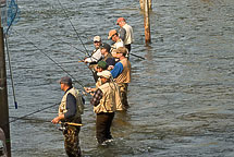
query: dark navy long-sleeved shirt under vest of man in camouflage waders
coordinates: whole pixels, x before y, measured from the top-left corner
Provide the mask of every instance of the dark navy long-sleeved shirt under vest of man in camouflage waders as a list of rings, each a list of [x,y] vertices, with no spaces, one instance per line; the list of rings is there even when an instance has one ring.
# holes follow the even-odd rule
[[[71,88],[69,88],[67,90],[70,89]],[[67,94],[66,96],[66,110],[67,111],[64,113],[65,119],[72,118],[76,113],[76,98],[72,94]]]

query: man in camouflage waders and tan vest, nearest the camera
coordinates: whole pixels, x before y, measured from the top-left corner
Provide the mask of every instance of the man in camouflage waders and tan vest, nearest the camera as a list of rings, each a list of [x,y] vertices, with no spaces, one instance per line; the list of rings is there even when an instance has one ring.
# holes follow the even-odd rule
[[[65,152],[69,157],[81,157],[82,152],[78,140],[81,126],[71,125],[67,122],[82,123],[81,114],[84,110],[84,104],[78,90],[72,84],[72,78],[69,76],[60,80],[61,89],[65,93],[59,106],[59,116],[51,122],[54,124],[59,122],[64,123],[63,135]]]

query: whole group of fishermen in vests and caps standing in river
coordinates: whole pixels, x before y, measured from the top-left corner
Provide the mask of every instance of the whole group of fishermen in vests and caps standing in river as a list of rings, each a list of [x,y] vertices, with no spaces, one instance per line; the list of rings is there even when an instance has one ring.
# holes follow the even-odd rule
[[[84,87],[93,96],[90,104],[96,113],[96,137],[98,144],[106,145],[112,141],[111,123],[116,111],[128,108],[127,86],[131,82],[130,51],[133,43],[133,28],[124,17],[119,17],[119,31],[111,29],[108,39],[114,44],[110,46],[101,41],[100,36],[94,37],[95,50],[83,61],[89,63],[96,81],[96,87]],[[51,122],[61,123],[64,135],[64,147],[67,156],[79,157],[78,133],[84,111],[84,98],[73,87],[72,78],[61,77],[61,89],[64,92],[59,106],[59,116]]]

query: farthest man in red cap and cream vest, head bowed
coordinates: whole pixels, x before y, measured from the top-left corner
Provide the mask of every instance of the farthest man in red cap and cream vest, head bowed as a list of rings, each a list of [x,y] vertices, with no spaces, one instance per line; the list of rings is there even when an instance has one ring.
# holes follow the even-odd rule
[[[133,28],[131,25],[126,23],[126,20],[124,17],[119,17],[116,21],[116,25],[120,26],[119,29],[120,38],[123,40],[125,48],[127,48],[130,52],[131,44],[134,40]]]

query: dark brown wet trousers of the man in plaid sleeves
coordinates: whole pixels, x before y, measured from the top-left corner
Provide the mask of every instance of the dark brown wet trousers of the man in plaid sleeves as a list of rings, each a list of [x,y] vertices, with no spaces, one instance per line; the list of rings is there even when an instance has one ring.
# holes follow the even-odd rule
[[[101,144],[107,140],[111,140],[111,123],[114,118],[114,112],[111,113],[97,113],[96,118],[96,137],[98,143]]]

